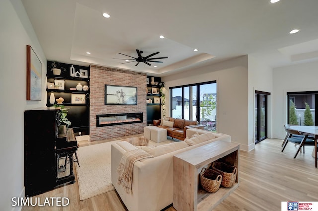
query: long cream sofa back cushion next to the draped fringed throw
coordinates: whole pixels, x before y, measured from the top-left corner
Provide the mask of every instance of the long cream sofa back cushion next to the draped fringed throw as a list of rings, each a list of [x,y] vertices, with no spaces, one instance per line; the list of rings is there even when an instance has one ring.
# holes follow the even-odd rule
[[[171,153],[173,151],[176,151],[185,147],[189,147],[189,145],[183,141],[179,141],[179,142],[174,142],[170,144],[160,145],[150,149],[145,149],[145,151],[149,153],[150,155],[152,155],[153,157],[157,157],[157,156]]]

